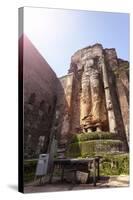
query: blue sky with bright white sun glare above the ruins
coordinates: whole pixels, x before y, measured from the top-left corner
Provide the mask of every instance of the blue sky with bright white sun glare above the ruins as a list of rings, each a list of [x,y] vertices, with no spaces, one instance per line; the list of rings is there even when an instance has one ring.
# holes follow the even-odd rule
[[[129,60],[129,14],[26,7],[24,32],[58,77],[75,51],[95,43]]]

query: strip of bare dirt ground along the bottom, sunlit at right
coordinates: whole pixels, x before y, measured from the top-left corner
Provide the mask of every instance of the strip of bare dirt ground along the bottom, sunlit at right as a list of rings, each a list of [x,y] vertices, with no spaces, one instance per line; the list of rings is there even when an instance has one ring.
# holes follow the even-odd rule
[[[48,184],[45,181],[39,184],[38,181],[34,183],[29,183],[25,185],[25,193],[33,192],[57,192],[57,191],[70,191],[70,190],[85,190],[85,189],[100,189],[100,188],[111,188],[111,187],[128,187],[129,186],[129,176],[111,176],[111,177],[101,177],[94,187],[93,183],[89,184],[72,184],[63,182],[59,180],[54,180],[52,184]]]

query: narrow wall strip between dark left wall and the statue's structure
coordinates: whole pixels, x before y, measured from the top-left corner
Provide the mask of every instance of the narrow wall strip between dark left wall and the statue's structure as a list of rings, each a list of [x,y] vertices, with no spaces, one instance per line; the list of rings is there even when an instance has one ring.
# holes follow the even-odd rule
[[[74,74],[68,74],[59,79],[57,84],[57,133],[60,144],[67,142],[71,128],[72,93]]]

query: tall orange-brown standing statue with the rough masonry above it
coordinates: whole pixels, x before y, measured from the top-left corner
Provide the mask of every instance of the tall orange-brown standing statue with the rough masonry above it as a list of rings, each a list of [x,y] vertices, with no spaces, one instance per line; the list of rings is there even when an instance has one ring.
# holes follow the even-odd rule
[[[77,89],[76,95],[79,96],[77,99],[79,101],[79,120],[77,120],[79,124],[73,122],[77,126],[75,131],[76,128],[84,132],[106,131],[108,129],[102,68],[99,65],[99,58],[102,55],[102,45],[96,44],[77,51],[71,58],[69,72],[75,74],[74,81],[78,82],[76,83],[78,87],[73,89],[73,93],[75,94],[74,90]],[[76,99],[74,94],[73,101]]]

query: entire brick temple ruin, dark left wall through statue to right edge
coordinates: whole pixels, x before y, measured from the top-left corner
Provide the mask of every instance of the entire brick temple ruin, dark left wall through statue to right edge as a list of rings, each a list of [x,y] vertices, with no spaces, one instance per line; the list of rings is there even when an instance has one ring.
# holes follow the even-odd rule
[[[128,61],[94,44],[75,52],[68,74],[57,78],[26,36],[22,43],[25,157],[47,152],[53,137],[63,148],[74,134],[93,132],[114,134],[122,147],[111,151],[128,152]]]

